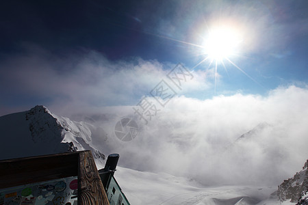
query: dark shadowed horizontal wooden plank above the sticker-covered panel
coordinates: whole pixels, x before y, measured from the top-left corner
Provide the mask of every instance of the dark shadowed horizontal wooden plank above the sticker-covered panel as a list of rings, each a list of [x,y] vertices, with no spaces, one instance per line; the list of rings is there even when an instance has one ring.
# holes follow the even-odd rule
[[[79,152],[0,161],[0,189],[78,174]]]

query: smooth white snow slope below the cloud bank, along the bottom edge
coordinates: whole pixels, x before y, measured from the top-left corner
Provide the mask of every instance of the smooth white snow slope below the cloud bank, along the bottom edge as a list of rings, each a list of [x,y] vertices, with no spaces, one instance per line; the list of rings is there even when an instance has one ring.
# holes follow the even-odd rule
[[[293,204],[279,202],[270,193],[277,187],[204,187],[194,180],[164,173],[138,172],[118,167],[116,180],[131,204],[234,205]]]

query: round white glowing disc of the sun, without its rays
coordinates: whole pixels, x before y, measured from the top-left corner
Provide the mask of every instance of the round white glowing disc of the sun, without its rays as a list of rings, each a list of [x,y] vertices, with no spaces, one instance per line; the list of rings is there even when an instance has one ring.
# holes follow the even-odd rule
[[[238,53],[242,42],[240,33],[233,27],[218,26],[209,29],[203,42],[203,52],[216,62]]]

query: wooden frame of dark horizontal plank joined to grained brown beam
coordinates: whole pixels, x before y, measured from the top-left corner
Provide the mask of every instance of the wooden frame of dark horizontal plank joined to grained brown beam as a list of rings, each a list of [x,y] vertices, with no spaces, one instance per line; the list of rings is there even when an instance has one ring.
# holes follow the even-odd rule
[[[78,205],[109,205],[92,153],[88,150],[0,161],[0,190],[71,176],[77,177]]]

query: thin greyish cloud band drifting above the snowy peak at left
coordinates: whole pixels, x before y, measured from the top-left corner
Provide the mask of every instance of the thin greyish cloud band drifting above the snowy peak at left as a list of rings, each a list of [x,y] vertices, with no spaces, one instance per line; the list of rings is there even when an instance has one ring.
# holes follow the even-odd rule
[[[23,111],[44,104],[69,116],[77,110],[136,105],[176,65],[139,57],[110,61],[94,51],[59,56],[27,45],[25,53],[9,56],[0,66],[0,85],[5,87],[0,91],[1,115],[12,111],[10,105]],[[209,72],[198,71],[177,93],[207,90],[207,77],[211,78]]]

